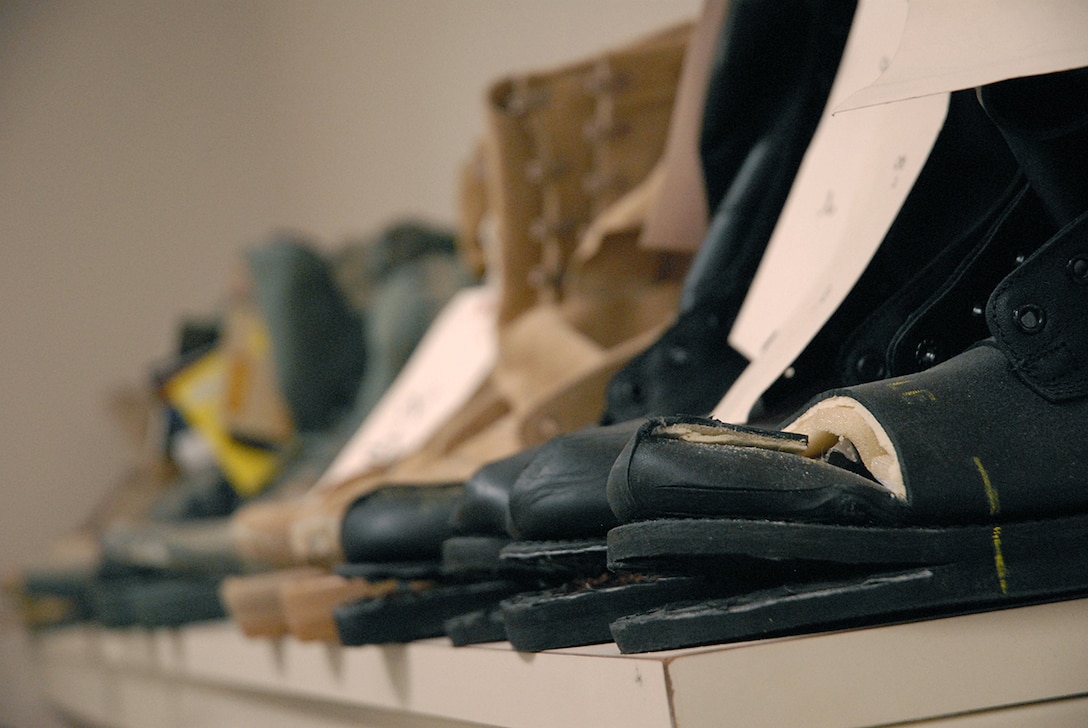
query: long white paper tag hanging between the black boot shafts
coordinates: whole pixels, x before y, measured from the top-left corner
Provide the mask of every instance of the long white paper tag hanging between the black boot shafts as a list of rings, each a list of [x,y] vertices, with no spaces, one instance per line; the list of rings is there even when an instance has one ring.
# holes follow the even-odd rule
[[[948,96],[832,115],[887,63],[905,2],[863,0],[832,98],[805,153],[730,344],[752,365],[714,416],[747,419],[857,282],[932,149]]]

